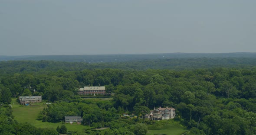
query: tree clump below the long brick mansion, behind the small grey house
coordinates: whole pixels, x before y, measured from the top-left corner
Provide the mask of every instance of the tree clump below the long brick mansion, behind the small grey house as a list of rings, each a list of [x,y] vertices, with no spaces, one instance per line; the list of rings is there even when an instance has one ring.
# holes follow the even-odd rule
[[[43,122],[65,122],[65,116],[81,116],[82,124],[102,128],[118,126],[112,125],[111,121],[120,118],[111,101],[78,100],[73,103],[62,101],[48,106],[38,116]]]

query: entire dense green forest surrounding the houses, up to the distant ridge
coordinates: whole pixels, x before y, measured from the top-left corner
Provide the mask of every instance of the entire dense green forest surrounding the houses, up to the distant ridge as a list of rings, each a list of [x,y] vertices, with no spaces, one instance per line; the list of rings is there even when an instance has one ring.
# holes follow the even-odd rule
[[[255,63],[254,58],[170,58],[95,64],[1,61],[1,121],[5,125],[0,127],[0,133],[34,135],[17,127],[8,104],[11,97],[42,95],[43,100],[49,98],[54,104],[43,109],[38,119],[61,122],[65,116],[82,116],[83,125],[109,127],[105,135],[144,135],[154,121],[121,119],[120,115],[131,112],[140,116],[159,106],[174,107],[174,120],[190,129],[185,133],[188,135],[254,135]],[[77,88],[98,84],[112,93],[113,100],[93,102],[77,95]],[[53,129],[33,129],[56,133]]]

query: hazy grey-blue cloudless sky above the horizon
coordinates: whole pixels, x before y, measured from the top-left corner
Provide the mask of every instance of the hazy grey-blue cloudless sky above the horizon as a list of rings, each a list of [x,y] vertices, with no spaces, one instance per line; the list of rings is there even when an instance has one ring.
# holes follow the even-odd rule
[[[256,52],[256,0],[0,0],[0,55]]]

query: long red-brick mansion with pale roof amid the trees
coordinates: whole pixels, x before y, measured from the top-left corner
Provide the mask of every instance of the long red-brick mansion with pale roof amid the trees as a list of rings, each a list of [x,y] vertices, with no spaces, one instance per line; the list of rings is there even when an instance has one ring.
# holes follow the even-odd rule
[[[81,96],[86,96],[86,95],[105,95],[105,86],[85,86],[84,88],[80,88],[78,91],[78,94]]]

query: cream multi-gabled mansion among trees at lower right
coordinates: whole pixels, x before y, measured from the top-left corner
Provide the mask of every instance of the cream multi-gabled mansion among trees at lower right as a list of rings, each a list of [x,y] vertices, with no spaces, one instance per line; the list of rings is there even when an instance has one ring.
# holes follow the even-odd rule
[[[153,120],[174,119],[175,109],[172,107],[157,108],[153,112]]]

